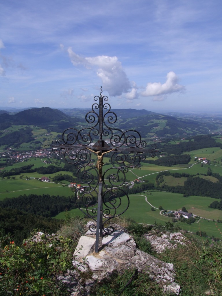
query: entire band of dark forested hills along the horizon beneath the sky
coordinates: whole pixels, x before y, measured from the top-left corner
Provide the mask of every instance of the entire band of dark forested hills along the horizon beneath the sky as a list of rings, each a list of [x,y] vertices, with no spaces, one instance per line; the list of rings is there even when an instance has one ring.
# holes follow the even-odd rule
[[[49,107],[32,108],[23,110],[14,115],[8,113],[0,114],[0,129],[5,129],[11,125],[35,125],[51,131],[62,133],[66,128],[85,125],[85,115],[92,111],[89,108],[73,109],[52,109]],[[104,110],[105,114],[106,110]],[[176,118],[147,111],[145,109],[111,109],[117,115],[117,121],[113,128],[118,127],[122,130],[136,129],[146,138],[163,138],[170,136],[195,136],[197,134],[214,133],[221,125],[219,118],[218,124],[204,116],[204,120],[198,118]],[[111,125],[112,126],[112,125]],[[88,127],[86,125],[86,127]],[[90,127],[90,125],[89,125]]]

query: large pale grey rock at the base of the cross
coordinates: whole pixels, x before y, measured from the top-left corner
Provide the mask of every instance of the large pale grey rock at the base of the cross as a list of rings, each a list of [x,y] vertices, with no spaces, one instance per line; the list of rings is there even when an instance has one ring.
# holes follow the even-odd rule
[[[119,229],[102,239],[99,253],[94,253],[95,237],[89,232],[79,240],[73,264],[82,271],[93,271],[92,278],[102,281],[108,274],[136,268],[157,281],[163,292],[179,295],[180,286],[174,282],[173,264],[165,263],[136,248],[133,237]],[[74,295],[74,294],[73,294]]]

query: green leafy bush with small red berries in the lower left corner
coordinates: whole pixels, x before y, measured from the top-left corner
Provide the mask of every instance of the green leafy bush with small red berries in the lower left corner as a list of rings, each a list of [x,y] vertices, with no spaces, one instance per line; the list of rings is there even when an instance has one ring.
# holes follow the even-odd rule
[[[1,234],[0,295],[67,295],[57,276],[72,265],[75,247],[71,239],[42,236],[17,246]],[[5,244],[6,243],[6,244]]]

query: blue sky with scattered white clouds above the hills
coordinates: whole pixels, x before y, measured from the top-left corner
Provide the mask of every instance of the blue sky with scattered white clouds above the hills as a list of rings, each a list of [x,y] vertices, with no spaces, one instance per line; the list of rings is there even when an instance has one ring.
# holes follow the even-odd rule
[[[221,112],[220,0],[0,0],[0,106]]]

